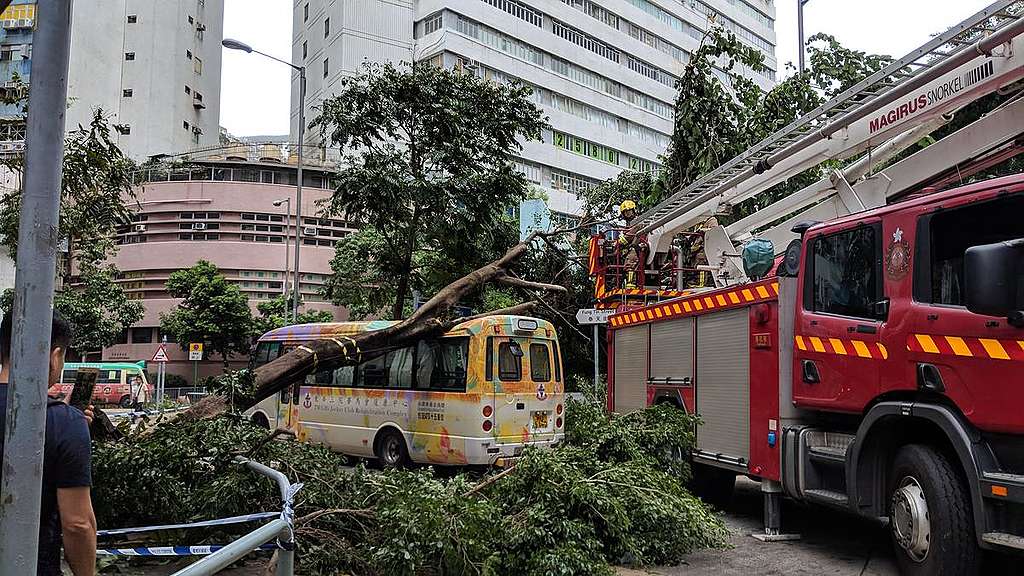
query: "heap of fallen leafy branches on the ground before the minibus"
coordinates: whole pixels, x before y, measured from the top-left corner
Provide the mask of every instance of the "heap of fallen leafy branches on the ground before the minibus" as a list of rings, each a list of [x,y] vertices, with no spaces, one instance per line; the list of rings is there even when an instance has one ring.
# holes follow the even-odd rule
[[[676,564],[725,545],[721,521],[685,489],[677,456],[689,451],[692,418],[668,407],[616,418],[592,404],[566,409],[565,445],[527,450],[497,479],[346,468],[317,446],[263,443],[266,431],[244,421],[178,421],[95,446],[95,509],[103,528],[275,509],[275,487],[229,463],[241,453],[304,483],[301,574],[610,575],[612,565]]]

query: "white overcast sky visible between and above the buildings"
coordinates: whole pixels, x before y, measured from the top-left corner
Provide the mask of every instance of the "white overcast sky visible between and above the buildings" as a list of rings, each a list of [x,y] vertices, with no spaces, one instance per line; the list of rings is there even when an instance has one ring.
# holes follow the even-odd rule
[[[797,2],[775,1],[780,71],[786,61],[794,65],[797,61]],[[808,37],[824,32],[847,47],[899,57],[989,3],[989,0],[811,0],[804,7],[804,30]],[[224,0],[224,37],[289,59],[292,1]],[[287,134],[290,74],[291,69],[285,65],[256,54],[224,50],[221,126],[239,136]]]

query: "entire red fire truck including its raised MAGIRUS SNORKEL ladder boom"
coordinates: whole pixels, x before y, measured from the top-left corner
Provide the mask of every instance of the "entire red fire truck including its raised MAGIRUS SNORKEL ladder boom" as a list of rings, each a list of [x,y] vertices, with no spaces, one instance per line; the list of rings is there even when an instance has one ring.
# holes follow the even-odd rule
[[[699,415],[697,475],[724,491],[759,480],[764,539],[783,536],[785,496],[888,519],[905,574],[1024,550],[1024,174],[964,183],[1020,154],[1024,99],[893,162],[1021,89],[1022,16],[1024,2],[992,4],[632,222],[660,270],[680,232],[847,161],[705,231],[715,287],[627,290],[592,263],[616,311],[608,409]],[[767,272],[742,265],[751,239],[784,247]]]

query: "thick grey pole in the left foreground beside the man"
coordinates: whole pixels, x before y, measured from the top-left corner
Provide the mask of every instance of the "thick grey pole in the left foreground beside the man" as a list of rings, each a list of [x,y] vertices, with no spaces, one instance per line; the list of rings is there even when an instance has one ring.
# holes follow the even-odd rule
[[[71,0],[42,2],[33,38],[0,486],[0,572],[35,576],[60,210]]]

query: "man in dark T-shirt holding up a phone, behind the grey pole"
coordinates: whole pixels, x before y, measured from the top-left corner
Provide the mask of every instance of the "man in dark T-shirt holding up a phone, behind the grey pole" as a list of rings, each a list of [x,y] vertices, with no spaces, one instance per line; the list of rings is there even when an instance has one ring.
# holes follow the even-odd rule
[[[63,356],[72,330],[53,313],[50,330],[49,385],[60,380]],[[7,417],[7,382],[10,378],[11,316],[0,325],[0,430]],[[0,451],[3,435],[0,434]],[[39,523],[39,576],[60,576],[60,545],[75,576],[94,576],[96,517],[89,487],[92,484],[91,445],[86,416],[78,408],[51,399],[46,405],[46,440],[43,448],[43,493]]]

